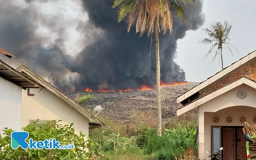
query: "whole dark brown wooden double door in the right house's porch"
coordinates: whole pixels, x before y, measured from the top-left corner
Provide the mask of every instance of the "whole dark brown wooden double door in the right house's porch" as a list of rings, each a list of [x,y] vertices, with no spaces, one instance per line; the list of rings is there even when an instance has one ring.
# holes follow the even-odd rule
[[[247,160],[243,127],[221,127],[222,160]]]

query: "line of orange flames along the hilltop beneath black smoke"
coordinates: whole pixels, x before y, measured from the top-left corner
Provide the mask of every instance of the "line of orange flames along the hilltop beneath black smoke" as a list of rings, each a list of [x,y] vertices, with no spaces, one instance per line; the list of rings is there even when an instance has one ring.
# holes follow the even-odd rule
[[[164,83],[161,80],[160,81],[160,86],[166,87],[166,86],[179,85],[179,84],[187,84],[187,83],[189,83],[189,82],[185,81],[185,82],[177,82],[177,83],[174,83],[174,84],[168,84],[168,83]],[[154,87],[152,87],[152,86],[149,86],[147,84],[143,84],[142,86],[140,86],[139,88],[137,88],[135,90],[151,90],[153,88]],[[118,91],[116,91],[116,90],[92,90],[89,87],[87,87],[87,88],[85,88],[84,91],[87,91],[87,92],[127,92],[127,91],[133,91],[133,90],[134,89],[131,89],[131,88],[128,88],[128,89],[125,89],[125,90],[119,89]]]

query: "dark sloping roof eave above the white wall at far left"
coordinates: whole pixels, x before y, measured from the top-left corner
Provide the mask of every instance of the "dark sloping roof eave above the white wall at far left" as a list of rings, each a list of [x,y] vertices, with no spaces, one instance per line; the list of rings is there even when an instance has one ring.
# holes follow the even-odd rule
[[[24,74],[15,70],[14,68],[12,68],[11,66],[4,63],[1,60],[0,60],[0,77],[22,87],[23,89],[26,89],[26,88],[44,89],[44,87],[38,84],[34,79],[31,79],[28,76],[25,76]]]

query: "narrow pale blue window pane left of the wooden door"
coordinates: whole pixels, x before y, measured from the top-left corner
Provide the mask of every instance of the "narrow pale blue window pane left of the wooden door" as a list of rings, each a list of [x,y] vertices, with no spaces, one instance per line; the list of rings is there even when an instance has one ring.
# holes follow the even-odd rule
[[[212,127],[212,151],[218,152],[221,148],[221,128]]]

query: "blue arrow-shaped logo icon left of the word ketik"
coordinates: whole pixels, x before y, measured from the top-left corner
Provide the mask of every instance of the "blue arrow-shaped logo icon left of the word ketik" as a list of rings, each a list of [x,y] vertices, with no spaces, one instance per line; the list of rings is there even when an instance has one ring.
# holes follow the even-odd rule
[[[26,139],[29,137],[28,132],[12,132],[11,134],[11,146],[12,149],[17,149],[19,146],[23,149],[29,148],[29,143],[26,142]]]

